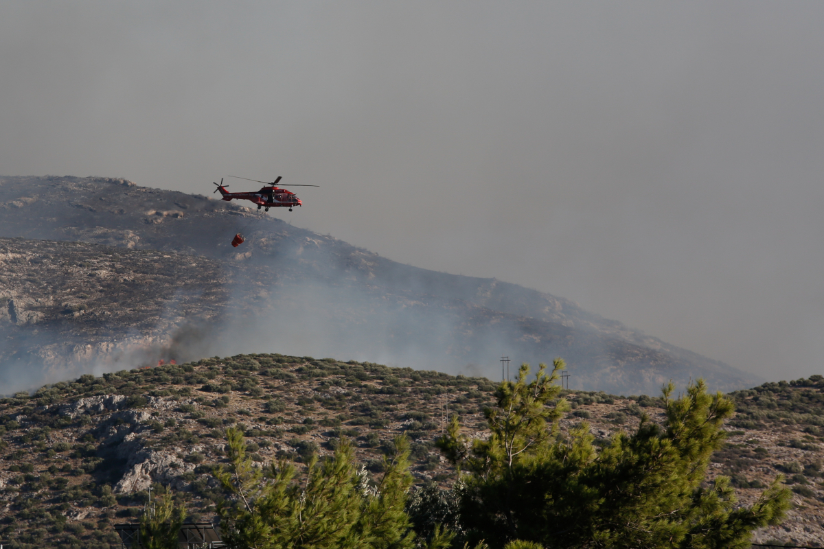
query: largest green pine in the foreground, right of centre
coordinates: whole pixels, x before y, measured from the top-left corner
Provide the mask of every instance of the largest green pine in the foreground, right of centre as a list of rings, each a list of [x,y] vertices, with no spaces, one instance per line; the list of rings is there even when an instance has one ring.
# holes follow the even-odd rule
[[[559,435],[566,409],[555,384],[564,361],[527,382],[522,365],[486,411],[491,436],[468,440],[452,425],[438,445],[465,473],[461,523],[470,542],[546,549],[750,547],[753,530],[780,523],[790,493],[775,479],[751,507],[737,505],[727,477],[705,482],[709,457],[724,440],[733,402],[709,395],[703,380],[672,398],[663,389],[663,427],[643,416],[602,449],[586,422]],[[514,545],[513,545],[514,543]]]

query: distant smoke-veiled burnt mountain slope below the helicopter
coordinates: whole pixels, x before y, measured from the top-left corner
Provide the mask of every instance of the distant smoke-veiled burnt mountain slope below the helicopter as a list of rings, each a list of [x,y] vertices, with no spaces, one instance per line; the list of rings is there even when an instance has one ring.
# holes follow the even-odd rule
[[[6,177],[0,178],[0,192],[4,200],[0,203],[0,237],[27,239],[0,244],[0,254],[16,254],[16,263],[0,264],[0,277],[7,280],[0,292],[10,299],[12,309],[21,312],[14,322],[19,343],[16,356],[40,357],[52,369],[74,360],[54,349],[76,349],[81,343],[60,338],[57,347],[44,347],[37,337],[30,337],[40,328],[19,322],[35,318],[26,316],[30,306],[35,316],[45,314],[37,310],[34,300],[42,299],[40,288],[59,284],[50,278],[55,275],[53,269],[41,269],[46,263],[37,263],[37,246],[30,244],[35,239],[103,244],[117,251],[94,248],[88,254],[121,258],[137,258],[129,254],[148,250],[161,252],[152,257],[187,272],[190,278],[186,280],[199,277],[198,265],[208,264],[208,269],[219,271],[220,276],[200,277],[192,284],[172,283],[179,290],[175,295],[187,295],[190,304],[197,295],[204,295],[204,305],[192,305],[206,312],[195,315],[199,325],[201,317],[210,318],[207,309],[217,306],[215,300],[222,295],[218,308],[231,313],[225,318],[232,322],[219,333],[202,337],[202,342],[212,346],[210,354],[303,351],[490,377],[496,371],[497,356],[532,362],[564,356],[574,387],[615,393],[654,393],[669,379],[683,385],[698,376],[723,390],[757,383],[728,365],[602,319],[569,300],[494,279],[396,263],[235,203],[108,178]],[[247,240],[236,249],[230,241],[238,231]],[[67,256],[56,261],[67,265],[72,260]],[[85,263],[94,262],[87,259]],[[126,263],[139,265],[131,259]],[[120,278],[129,276],[128,268],[126,264],[120,268]],[[88,268],[77,263],[73,269],[63,269],[60,276],[77,280],[88,276],[83,269]],[[207,278],[213,286],[199,294]],[[151,292],[159,286],[163,285],[141,288],[145,299],[153,299]],[[107,291],[105,285],[100,287],[102,293]],[[11,300],[22,305],[11,305]],[[115,343],[138,337],[138,333],[139,337],[147,337],[148,332],[166,334],[166,341],[152,339],[154,347],[147,350],[148,355],[157,355],[157,346],[174,347],[176,334],[191,332],[190,317],[181,313],[190,305],[177,305],[168,295],[157,300],[166,306],[167,321],[153,328],[112,329],[87,343],[98,346],[104,355],[105,349],[118,350],[100,356],[103,363],[119,360],[120,346]],[[124,307],[133,309],[126,303]],[[158,318],[150,309],[141,309],[147,316],[137,324]],[[102,314],[91,309],[90,314],[96,313]],[[68,321],[70,317],[54,319]],[[59,333],[73,329],[60,328]]]

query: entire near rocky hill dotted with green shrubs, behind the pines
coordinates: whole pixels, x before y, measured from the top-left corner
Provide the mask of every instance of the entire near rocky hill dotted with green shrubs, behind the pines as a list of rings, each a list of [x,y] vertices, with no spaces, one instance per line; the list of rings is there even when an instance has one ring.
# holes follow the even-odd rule
[[[219,491],[210,474],[225,460],[223,429],[246,431],[256,461],[302,463],[329,455],[341,437],[358,460],[381,471],[393,438],[413,441],[421,486],[456,478],[437,449],[445,412],[467,434],[486,432],[482,410],[494,384],[484,378],[309,356],[242,355],[121,370],[17,393],[0,401],[0,539],[15,547],[108,547],[113,525],[143,512],[149,486],[171,487],[195,521],[213,520]],[[562,430],[588,421],[597,441],[633,430],[657,398],[564,391],[572,403]],[[824,544],[824,379],[765,384],[734,393],[737,416],[711,477],[727,474],[743,501],[783,472],[794,509],[761,542]]]

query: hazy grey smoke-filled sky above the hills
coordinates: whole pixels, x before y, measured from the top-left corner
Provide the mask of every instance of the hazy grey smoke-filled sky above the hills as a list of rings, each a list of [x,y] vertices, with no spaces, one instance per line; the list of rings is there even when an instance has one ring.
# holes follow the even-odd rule
[[[2,2],[0,174],[320,184],[274,215],[797,378],[824,370],[822,28],[824,2]]]

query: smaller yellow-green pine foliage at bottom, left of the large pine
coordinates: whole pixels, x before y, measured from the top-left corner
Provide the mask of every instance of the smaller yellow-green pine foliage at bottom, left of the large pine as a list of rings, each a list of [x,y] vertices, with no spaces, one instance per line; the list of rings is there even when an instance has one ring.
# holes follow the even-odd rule
[[[405,437],[396,438],[396,452],[384,458],[384,473],[375,485],[363,469],[355,468],[352,445],[345,440],[332,458],[322,463],[311,458],[303,479],[297,479],[296,469],[288,463],[255,468],[246,455],[241,430],[228,429],[227,440],[229,465],[215,474],[231,495],[218,503],[228,547],[415,547],[414,530],[404,511],[412,483]],[[447,535],[438,533],[433,549],[446,547]]]

